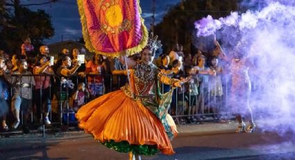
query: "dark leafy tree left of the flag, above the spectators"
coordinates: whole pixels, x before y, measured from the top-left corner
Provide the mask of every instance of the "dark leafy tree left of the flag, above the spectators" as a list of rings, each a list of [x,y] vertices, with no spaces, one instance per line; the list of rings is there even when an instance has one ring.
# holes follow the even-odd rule
[[[0,30],[0,38],[4,41],[0,43],[1,49],[10,53],[20,51],[23,39],[27,37],[31,38],[35,47],[39,47],[44,39],[54,35],[51,17],[44,10],[32,11],[22,6],[19,0],[13,2],[13,4],[2,3],[3,7],[0,6],[0,18],[3,8],[4,13],[9,13],[7,22],[10,24],[3,25]],[[14,13],[5,6],[13,7]]]

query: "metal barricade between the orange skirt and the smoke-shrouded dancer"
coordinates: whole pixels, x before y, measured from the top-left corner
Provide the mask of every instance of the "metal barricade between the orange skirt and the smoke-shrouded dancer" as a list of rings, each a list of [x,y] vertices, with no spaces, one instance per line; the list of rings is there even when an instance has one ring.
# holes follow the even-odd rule
[[[177,75],[177,77],[187,77],[187,75]],[[174,90],[169,113],[178,124],[225,119],[224,116],[229,114],[226,78],[221,75],[215,77],[193,75],[182,88]],[[162,88],[165,87],[167,88],[162,84]],[[162,93],[165,90],[167,91],[162,89]]]

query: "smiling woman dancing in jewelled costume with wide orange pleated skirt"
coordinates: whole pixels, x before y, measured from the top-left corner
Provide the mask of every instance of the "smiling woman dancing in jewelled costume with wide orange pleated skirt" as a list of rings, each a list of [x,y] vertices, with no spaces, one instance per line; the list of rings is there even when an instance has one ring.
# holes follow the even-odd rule
[[[96,98],[76,113],[79,127],[112,150],[129,152],[130,159],[157,152],[174,154],[170,140],[177,130],[167,113],[173,90],[160,95],[158,85],[162,82],[175,88],[187,81],[160,72],[152,63],[153,45],[147,45],[141,56],[142,61],[129,70],[131,86]]]

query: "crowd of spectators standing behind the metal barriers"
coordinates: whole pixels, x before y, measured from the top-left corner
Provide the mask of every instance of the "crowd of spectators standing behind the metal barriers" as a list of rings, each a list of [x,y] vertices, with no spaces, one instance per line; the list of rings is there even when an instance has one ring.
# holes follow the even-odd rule
[[[3,130],[17,129],[22,124],[27,133],[30,113],[33,122],[51,125],[58,122],[63,111],[75,112],[91,99],[117,90],[127,82],[126,68],[120,58],[93,54],[91,59],[81,61],[78,58],[81,50],[62,49],[53,63],[49,47],[41,46],[37,54],[35,50],[30,38],[26,38],[19,54],[0,53],[0,98],[10,104],[10,112],[1,118]],[[140,61],[139,56],[129,58]],[[182,45],[176,45],[169,54],[156,58],[155,64],[170,77],[189,77],[183,88],[174,90],[170,112],[177,115],[175,120],[198,123],[206,118],[205,113],[220,118],[217,113],[224,96],[224,65],[219,65],[218,54],[213,51],[203,55],[200,50],[187,53]],[[162,93],[170,89],[162,85]],[[57,116],[51,116],[54,100],[58,102]],[[9,115],[13,115],[10,120]]]

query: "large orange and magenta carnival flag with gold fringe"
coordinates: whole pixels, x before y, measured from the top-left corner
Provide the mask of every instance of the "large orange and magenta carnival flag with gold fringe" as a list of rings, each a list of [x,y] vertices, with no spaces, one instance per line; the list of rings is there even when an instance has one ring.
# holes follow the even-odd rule
[[[78,0],[88,50],[105,56],[140,52],[149,38],[138,0]]]

